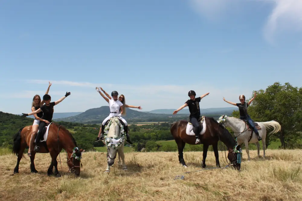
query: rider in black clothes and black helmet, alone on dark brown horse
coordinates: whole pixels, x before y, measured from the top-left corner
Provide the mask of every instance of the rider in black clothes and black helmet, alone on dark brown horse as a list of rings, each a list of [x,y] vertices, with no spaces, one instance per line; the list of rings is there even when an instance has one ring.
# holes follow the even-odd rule
[[[194,132],[195,137],[196,137],[195,144],[200,144],[200,139],[198,137],[199,137],[200,130],[202,129],[202,125],[200,125],[201,128],[199,129],[199,122],[198,122],[198,119],[201,117],[200,116],[199,102],[201,101],[201,99],[204,96],[207,96],[207,95],[209,95],[209,93],[206,93],[206,94],[204,94],[204,95],[202,95],[200,97],[195,98],[196,93],[193,90],[191,90],[188,93],[188,96],[190,97],[190,99],[187,100],[187,102],[185,102],[184,105],[182,105],[180,108],[178,108],[177,110],[175,110],[173,112],[173,115],[175,115],[182,108],[185,108],[185,107],[189,106],[190,122],[193,125],[193,132]]]

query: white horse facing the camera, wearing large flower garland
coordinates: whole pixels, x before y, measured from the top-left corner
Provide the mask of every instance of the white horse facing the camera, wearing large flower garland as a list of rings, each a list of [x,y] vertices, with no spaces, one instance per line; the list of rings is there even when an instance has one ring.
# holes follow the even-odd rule
[[[104,128],[103,142],[107,146],[107,169],[105,173],[110,172],[110,167],[114,164],[117,153],[119,155],[118,165],[122,165],[123,170],[127,170],[124,155],[125,137],[124,127],[120,123],[119,118],[111,118],[108,125]],[[121,164],[120,158],[122,159],[123,164]]]

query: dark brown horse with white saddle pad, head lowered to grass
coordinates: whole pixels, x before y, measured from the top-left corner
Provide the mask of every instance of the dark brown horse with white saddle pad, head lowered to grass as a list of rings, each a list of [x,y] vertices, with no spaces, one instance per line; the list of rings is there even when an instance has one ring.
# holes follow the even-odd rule
[[[219,154],[218,154],[218,141],[221,140],[228,148],[228,159],[230,160],[233,167],[240,170],[240,158],[237,158],[238,152],[241,152],[240,146],[236,144],[236,141],[233,139],[232,135],[229,133],[228,130],[223,128],[214,118],[205,117],[204,121],[206,122],[206,131],[203,135],[200,135],[199,138],[201,140],[201,144],[204,145],[203,147],[203,159],[202,159],[202,167],[205,168],[205,160],[207,157],[207,150],[209,145],[213,146],[215,158],[216,158],[216,166],[220,167],[219,164]],[[186,127],[188,121],[179,120],[175,122],[171,126],[171,134],[175,139],[175,142],[178,147],[178,160],[184,167],[187,167],[185,160],[183,158],[183,150],[185,148],[185,144],[196,145],[195,136],[187,135]]]

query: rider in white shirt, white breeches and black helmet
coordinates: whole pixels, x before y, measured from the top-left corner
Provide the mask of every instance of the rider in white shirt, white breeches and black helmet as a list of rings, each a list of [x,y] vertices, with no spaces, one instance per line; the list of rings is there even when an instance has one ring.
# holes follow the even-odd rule
[[[120,102],[117,99],[118,93],[117,91],[113,91],[111,92],[111,96],[109,99],[101,93],[100,88],[95,87],[95,89],[97,90],[98,93],[100,93],[100,95],[109,103],[109,108],[110,108],[110,114],[107,118],[104,119],[102,125],[101,125],[101,133],[99,133],[99,137],[97,137],[97,140],[103,140],[104,139],[104,128],[105,128],[105,124],[106,122],[111,118],[111,117],[119,117],[120,120],[122,120],[123,124],[124,124],[124,131],[126,133],[126,141],[129,144],[132,144],[132,142],[130,141],[130,137],[128,134],[128,125],[127,125],[127,121],[122,118],[122,114],[124,112],[124,105],[122,102]]]

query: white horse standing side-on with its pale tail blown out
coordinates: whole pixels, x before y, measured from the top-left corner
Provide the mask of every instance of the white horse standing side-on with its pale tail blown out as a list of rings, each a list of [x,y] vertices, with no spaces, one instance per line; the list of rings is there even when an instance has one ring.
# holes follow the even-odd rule
[[[243,120],[240,120],[235,117],[227,117],[223,115],[219,118],[218,123],[222,122],[224,127],[230,127],[234,131],[234,135],[237,139],[237,143],[241,145],[242,143],[246,146],[246,153],[248,156],[248,161],[250,161],[249,157],[249,143],[255,143],[257,145],[258,157],[260,156],[260,144],[257,139],[257,135],[253,131],[253,135],[251,138],[251,130],[246,125]],[[266,122],[255,122],[257,123],[261,129],[258,130],[259,136],[262,138],[262,149],[263,149],[263,157],[265,158],[265,138],[266,138],[266,129],[273,128],[273,130],[268,133],[268,135],[277,133],[281,130],[281,125],[277,121],[266,121]],[[250,139],[251,138],[251,139]]]

